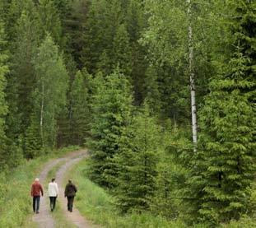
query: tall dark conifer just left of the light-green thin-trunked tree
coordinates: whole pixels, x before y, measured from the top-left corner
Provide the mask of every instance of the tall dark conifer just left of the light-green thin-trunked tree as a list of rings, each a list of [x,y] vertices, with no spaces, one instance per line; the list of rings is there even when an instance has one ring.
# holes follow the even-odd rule
[[[7,99],[11,116],[7,118],[8,136],[16,140],[30,124],[31,93],[35,88],[32,60],[40,42],[38,17],[33,2],[28,2],[16,24],[16,40],[12,50],[12,68],[8,77]]]

